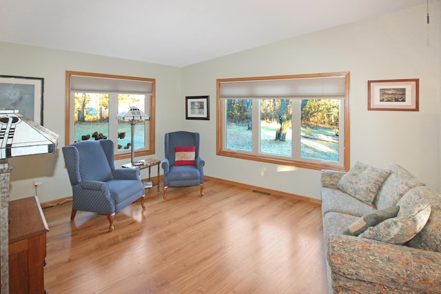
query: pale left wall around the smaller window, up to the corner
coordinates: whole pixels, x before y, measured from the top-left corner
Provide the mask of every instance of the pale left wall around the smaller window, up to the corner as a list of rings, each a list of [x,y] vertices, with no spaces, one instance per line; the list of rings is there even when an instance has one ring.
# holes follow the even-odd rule
[[[43,123],[46,128],[60,135],[59,147],[54,155],[9,159],[13,168],[10,199],[35,195],[33,181],[43,182],[37,190],[41,202],[72,195],[61,153],[65,139],[66,70],[156,79],[156,155],[152,155],[154,158],[164,157],[164,134],[175,130],[176,124],[179,123],[175,117],[179,117],[181,111],[170,106],[180,97],[181,68],[1,42],[0,65],[0,75],[44,78]],[[127,160],[117,161],[115,165],[120,166],[124,163],[127,163]],[[152,168],[152,175],[156,175],[156,168]],[[148,177],[147,169],[141,171],[141,177]]]

